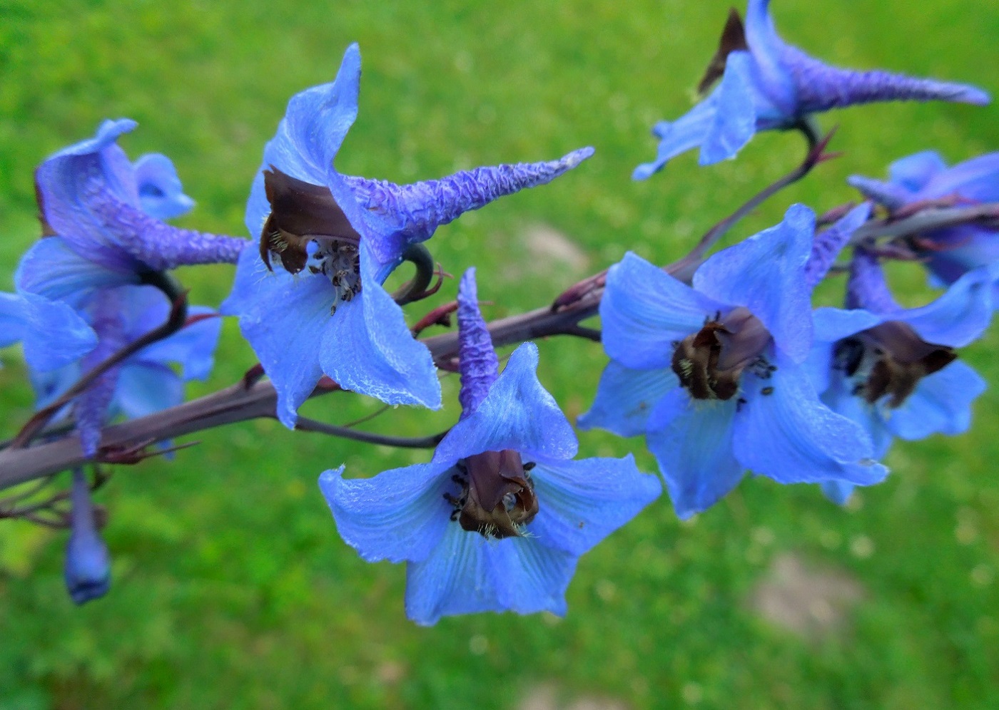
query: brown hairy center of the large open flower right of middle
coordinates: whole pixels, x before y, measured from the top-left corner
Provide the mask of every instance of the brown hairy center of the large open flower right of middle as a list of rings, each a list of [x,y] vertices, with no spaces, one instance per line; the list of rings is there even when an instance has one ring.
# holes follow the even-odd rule
[[[705,319],[697,333],[674,344],[671,366],[695,399],[730,399],[747,365],[771,365],[761,356],[770,343],[763,324],[743,307]]]

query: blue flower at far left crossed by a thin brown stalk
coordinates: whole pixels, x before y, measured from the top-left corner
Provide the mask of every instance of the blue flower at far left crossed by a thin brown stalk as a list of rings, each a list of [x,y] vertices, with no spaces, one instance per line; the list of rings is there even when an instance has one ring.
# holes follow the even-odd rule
[[[28,358],[37,406],[51,403],[87,370],[163,325],[169,312],[163,294],[151,286],[99,292],[82,311],[99,336],[96,348],[75,362],[47,371],[34,367]],[[176,406],[184,401],[185,381],[208,377],[222,322],[211,309],[202,307],[190,308],[189,320],[190,325],[174,335],[99,376],[75,400],[73,414],[87,455],[97,452],[101,427],[108,420],[119,414],[134,418]],[[180,365],[179,374],[171,366],[174,363]],[[68,414],[68,409],[63,413]]]

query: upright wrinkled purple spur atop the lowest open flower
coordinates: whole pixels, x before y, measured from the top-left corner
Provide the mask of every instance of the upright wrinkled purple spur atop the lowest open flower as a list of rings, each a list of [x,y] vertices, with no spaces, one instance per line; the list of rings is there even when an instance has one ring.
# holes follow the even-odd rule
[[[479,311],[476,270],[469,269],[458,289],[459,371],[462,373],[462,418],[471,414],[486,398],[500,373],[500,360],[493,339]]]

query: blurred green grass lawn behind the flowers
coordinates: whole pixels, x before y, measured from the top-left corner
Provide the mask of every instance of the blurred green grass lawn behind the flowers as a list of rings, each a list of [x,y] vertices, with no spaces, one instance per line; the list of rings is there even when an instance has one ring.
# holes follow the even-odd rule
[[[963,80],[999,95],[999,6],[774,3],[789,40],[834,63]],[[263,144],[289,97],[332,80],[361,43],[358,123],[345,173],[413,181],[480,164],[596,156],[554,184],[443,228],[429,246],[454,274],[480,268],[488,317],[550,300],[627,249],[659,262],[800,157],[799,139],[758,136],[734,162],[677,159],[645,183],[647,131],[690,105],[727,4],[533,0],[471,4],[0,0],[0,289],[37,235],[32,170],[92,135],[104,118],[140,128],[136,157],[163,152],[199,202],[185,226],[244,234]],[[791,202],[824,210],[852,199],[843,179],[882,176],[933,148],[952,162],[999,145],[995,107],[884,105],[837,122],[844,158],[762,207],[733,233],[775,223]],[[542,262],[525,237],[566,235],[582,264]],[[198,303],[231,283],[220,267],[182,273]],[[925,300],[912,270],[896,277]],[[838,288],[836,285],[835,288]],[[835,298],[835,288],[824,298]],[[441,301],[453,298],[449,283]],[[999,381],[994,333],[967,360]],[[3,355],[0,433],[31,410],[16,352]],[[204,392],[253,361],[227,323]],[[604,357],[582,343],[541,345],[541,377],[570,416],[584,410]],[[580,381],[585,386],[578,386]],[[438,430],[447,410],[398,409],[373,427]],[[375,405],[331,396],[308,411],[346,421]],[[75,608],[61,581],[64,535],[26,523],[0,534],[0,708],[511,708],[554,688],[630,707],[995,707],[999,697],[999,396],[976,402],[973,430],[898,445],[889,480],[849,509],[814,486],[746,480],[695,521],[651,506],[580,562],[569,614],[408,622],[402,566],[366,564],[338,537],[316,487],[342,462],[367,475],[425,453],[361,447],[275,422],[199,436],[173,462],[123,468],[100,494],[111,512],[111,594]],[[580,455],[634,449],[599,432]],[[805,640],[749,603],[778,556],[849,575],[861,601],[837,631]]]

